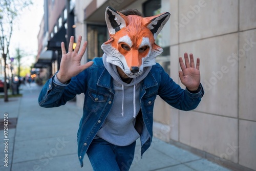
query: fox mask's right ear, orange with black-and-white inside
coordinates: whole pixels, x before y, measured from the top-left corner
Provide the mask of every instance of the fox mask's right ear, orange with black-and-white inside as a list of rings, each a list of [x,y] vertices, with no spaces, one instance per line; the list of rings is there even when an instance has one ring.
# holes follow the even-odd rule
[[[165,12],[151,17],[144,17],[143,23],[144,26],[150,29],[150,31],[154,35],[154,38],[156,39],[157,35],[162,30],[163,26],[168,21],[169,17],[170,13]]]

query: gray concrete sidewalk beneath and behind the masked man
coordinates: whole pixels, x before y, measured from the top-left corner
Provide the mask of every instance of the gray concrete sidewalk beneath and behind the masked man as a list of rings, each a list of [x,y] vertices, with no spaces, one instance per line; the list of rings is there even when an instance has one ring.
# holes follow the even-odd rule
[[[0,129],[0,170],[92,170],[87,156],[82,168],[77,157],[76,133],[82,109],[75,102],[58,108],[41,108],[37,103],[41,87],[32,83],[30,86],[22,85],[20,89],[23,97],[9,98],[6,103],[3,98],[0,99],[0,119],[4,118],[5,113],[9,121],[17,118],[16,129],[8,129],[8,137],[5,138],[3,128]],[[8,124],[11,126],[12,123]],[[4,159],[7,154],[5,148],[8,148],[8,159]],[[8,167],[4,166],[4,161],[8,161]],[[140,141],[137,141],[130,170],[228,169],[154,138],[142,159]]]

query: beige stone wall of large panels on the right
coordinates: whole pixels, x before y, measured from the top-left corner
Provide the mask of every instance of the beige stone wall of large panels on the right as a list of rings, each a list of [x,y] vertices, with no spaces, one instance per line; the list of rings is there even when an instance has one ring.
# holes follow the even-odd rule
[[[200,57],[205,95],[183,112],[158,98],[155,135],[256,169],[256,1],[170,1],[170,76],[178,57]]]

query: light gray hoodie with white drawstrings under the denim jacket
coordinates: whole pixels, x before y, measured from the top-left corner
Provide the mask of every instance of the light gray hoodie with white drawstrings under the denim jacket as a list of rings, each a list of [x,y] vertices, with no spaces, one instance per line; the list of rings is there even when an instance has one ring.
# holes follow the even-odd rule
[[[130,145],[140,137],[134,128],[136,116],[140,111],[140,85],[152,67],[145,67],[141,75],[126,83],[120,78],[116,66],[106,62],[105,54],[102,59],[106,70],[113,77],[115,98],[96,138],[100,137],[114,145]]]

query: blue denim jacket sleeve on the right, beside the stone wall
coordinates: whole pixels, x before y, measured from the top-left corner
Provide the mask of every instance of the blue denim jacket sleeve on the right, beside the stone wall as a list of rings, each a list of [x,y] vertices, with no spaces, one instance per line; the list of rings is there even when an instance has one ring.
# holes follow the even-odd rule
[[[189,111],[197,108],[204,95],[203,87],[200,83],[197,93],[190,93],[187,89],[182,89],[169,75],[160,70],[160,85],[158,95],[174,108]]]

